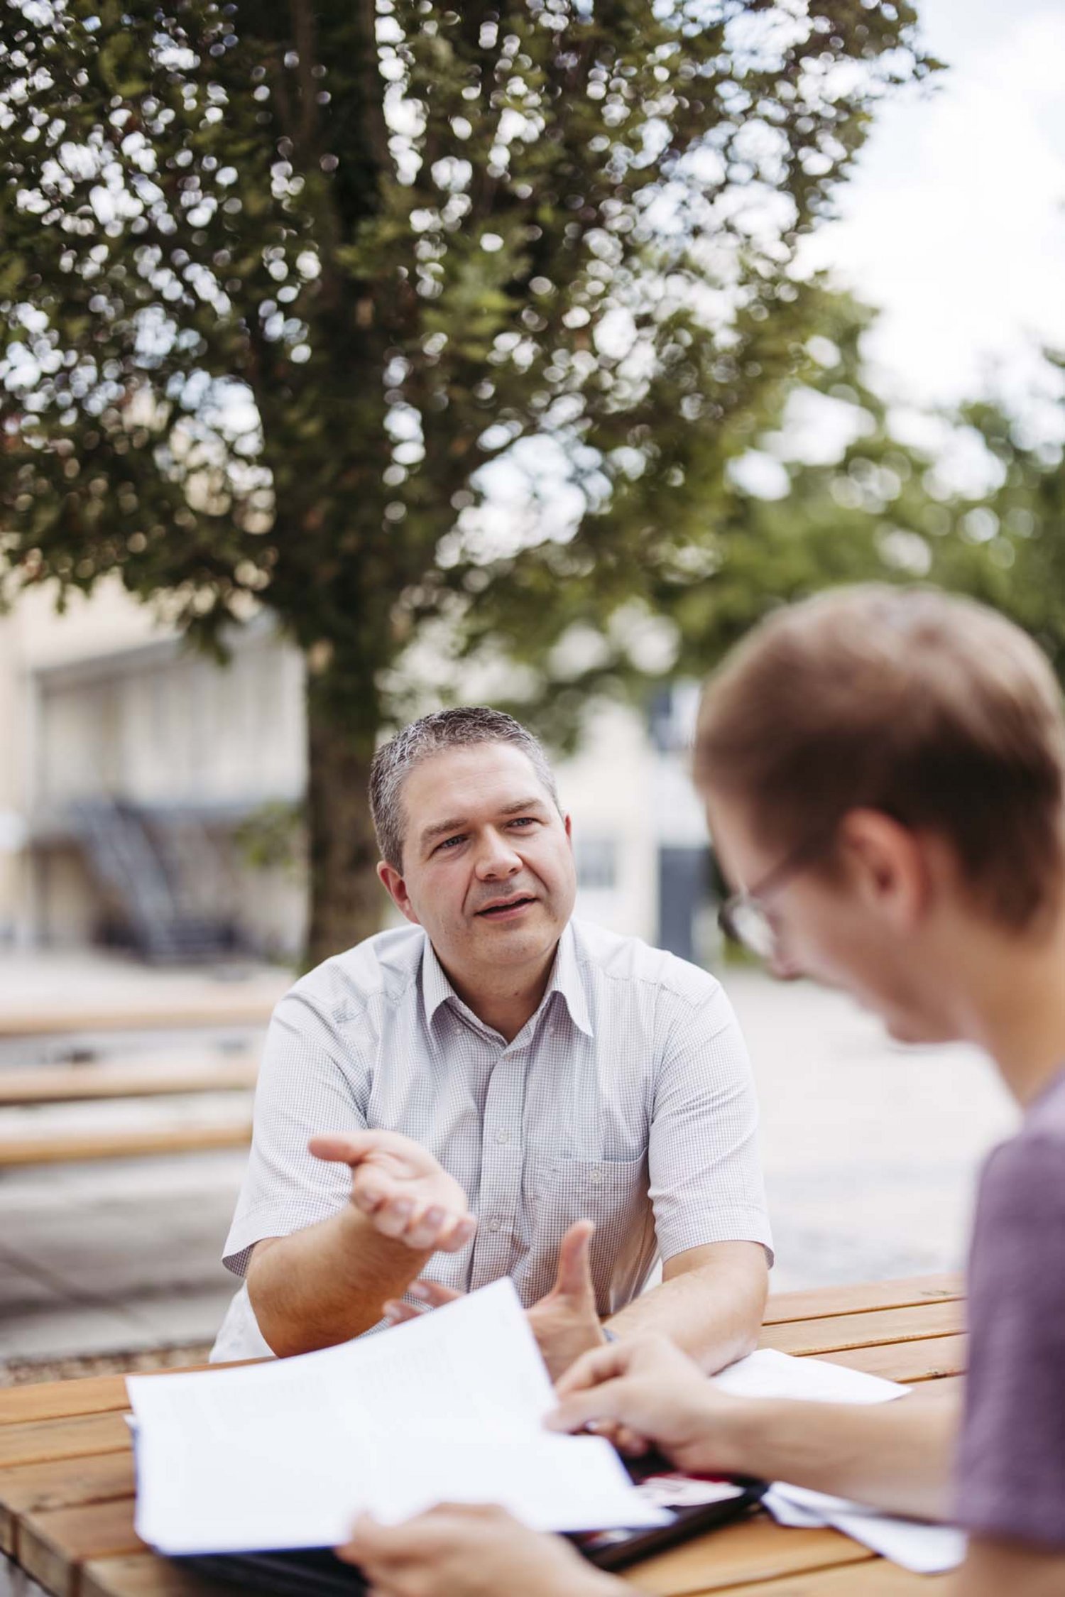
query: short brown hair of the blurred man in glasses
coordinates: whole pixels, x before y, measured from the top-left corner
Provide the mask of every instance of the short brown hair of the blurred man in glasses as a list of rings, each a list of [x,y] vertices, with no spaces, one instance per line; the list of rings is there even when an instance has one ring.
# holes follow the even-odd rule
[[[996,920],[1057,902],[1060,692],[1031,639],[972,600],[870,585],[774,612],[707,684],[695,775],[774,846],[869,806],[945,837]]]

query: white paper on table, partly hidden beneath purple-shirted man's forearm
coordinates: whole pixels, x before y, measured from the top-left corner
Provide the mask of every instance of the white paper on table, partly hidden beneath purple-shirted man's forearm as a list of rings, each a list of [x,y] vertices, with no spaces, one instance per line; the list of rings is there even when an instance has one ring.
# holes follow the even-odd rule
[[[790,1397],[798,1402],[889,1402],[910,1389],[880,1375],[848,1370],[830,1359],[794,1359],[760,1348],[714,1377],[715,1386],[739,1397]],[[917,1575],[952,1570],[964,1557],[964,1535],[950,1525],[880,1514],[862,1503],[774,1482],[763,1498],[781,1525],[832,1525],[893,1563]]]

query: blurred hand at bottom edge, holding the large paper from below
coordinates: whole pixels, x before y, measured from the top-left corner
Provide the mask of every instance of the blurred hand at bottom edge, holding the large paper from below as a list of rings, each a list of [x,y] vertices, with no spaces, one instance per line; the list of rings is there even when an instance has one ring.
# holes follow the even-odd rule
[[[402,1525],[364,1514],[337,1547],[372,1597],[615,1597],[620,1581],[501,1508],[444,1503]]]

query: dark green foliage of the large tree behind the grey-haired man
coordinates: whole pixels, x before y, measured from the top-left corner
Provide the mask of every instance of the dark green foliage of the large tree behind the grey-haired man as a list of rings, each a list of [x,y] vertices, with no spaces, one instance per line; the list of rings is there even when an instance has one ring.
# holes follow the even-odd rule
[[[374,722],[430,620],[530,658],[610,621],[802,364],[795,241],[912,35],[875,0],[8,0],[13,586],[117,572],[208,639],[265,600]],[[576,509],[497,553],[484,468],[536,441]]]

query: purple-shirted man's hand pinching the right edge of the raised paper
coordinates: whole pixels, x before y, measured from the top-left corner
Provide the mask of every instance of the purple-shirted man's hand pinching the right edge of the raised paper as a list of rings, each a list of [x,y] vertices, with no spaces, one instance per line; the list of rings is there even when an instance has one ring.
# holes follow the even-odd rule
[[[599,1429],[655,1444],[693,1474],[742,1474],[731,1456],[738,1397],[715,1391],[699,1365],[667,1337],[634,1337],[586,1353],[557,1383],[552,1431]],[[631,1445],[631,1442],[629,1442]]]

